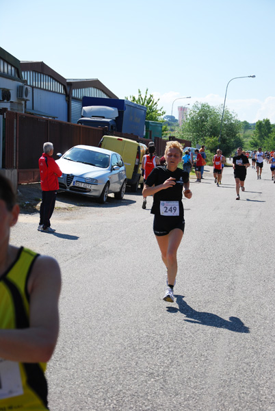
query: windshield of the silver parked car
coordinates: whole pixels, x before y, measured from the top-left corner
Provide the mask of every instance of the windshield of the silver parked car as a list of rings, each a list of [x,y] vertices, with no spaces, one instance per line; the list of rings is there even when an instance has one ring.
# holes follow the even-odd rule
[[[101,167],[101,169],[107,169],[110,160],[108,154],[99,153],[98,151],[79,149],[77,147],[70,149],[64,155],[64,159],[89,164],[90,166]]]

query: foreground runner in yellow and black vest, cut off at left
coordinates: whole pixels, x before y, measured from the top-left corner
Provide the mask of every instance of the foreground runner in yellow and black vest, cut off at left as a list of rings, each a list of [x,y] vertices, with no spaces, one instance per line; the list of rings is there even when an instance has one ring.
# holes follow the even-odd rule
[[[48,410],[46,363],[59,329],[57,262],[10,245],[19,208],[0,175],[0,410]]]

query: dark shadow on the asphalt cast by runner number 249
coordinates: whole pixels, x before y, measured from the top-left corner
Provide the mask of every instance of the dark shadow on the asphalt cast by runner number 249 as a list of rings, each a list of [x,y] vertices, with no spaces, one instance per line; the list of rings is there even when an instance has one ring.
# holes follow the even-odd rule
[[[183,295],[174,295],[176,297],[176,303],[179,308],[168,307],[168,312],[181,312],[188,317],[184,321],[188,323],[208,325],[209,327],[216,328],[226,328],[229,331],[240,332],[248,334],[249,328],[244,325],[244,323],[235,316],[229,317],[229,321],[222,319],[222,317],[212,314],[211,312],[200,312],[194,310],[194,308],[188,306],[188,304],[183,300]]]

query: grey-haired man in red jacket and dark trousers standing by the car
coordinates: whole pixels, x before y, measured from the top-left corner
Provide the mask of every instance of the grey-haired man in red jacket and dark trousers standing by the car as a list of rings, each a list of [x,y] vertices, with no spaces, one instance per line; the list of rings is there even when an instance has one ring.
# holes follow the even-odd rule
[[[38,231],[44,233],[54,233],[51,228],[50,219],[55,208],[55,199],[59,188],[57,177],[62,176],[62,171],[53,160],[53,144],[44,142],[44,153],[39,159],[40,184],[42,188],[42,203],[40,206],[40,222]]]

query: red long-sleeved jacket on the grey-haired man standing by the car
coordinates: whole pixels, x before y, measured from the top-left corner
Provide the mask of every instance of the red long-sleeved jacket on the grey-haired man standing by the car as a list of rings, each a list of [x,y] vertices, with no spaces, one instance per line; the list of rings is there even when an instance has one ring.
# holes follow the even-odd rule
[[[43,153],[41,155],[39,171],[42,191],[54,191],[60,188],[57,177],[62,176],[62,171],[49,154]]]

